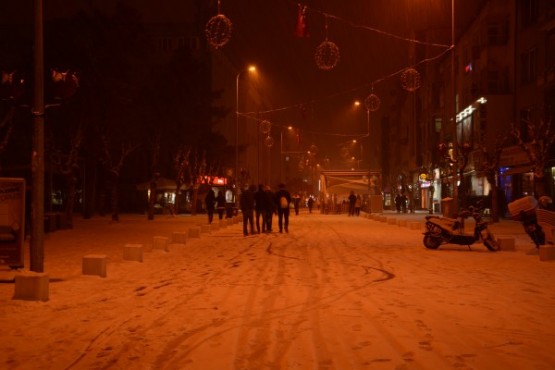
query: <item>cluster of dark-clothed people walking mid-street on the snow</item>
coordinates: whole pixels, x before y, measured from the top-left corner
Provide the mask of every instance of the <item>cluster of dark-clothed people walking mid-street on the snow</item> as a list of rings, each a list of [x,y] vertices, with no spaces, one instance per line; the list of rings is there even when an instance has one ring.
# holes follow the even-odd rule
[[[278,216],[279,232],[289,232],[289,205],[291,194],[284,184],[273,193],[270,186],[249,186],[243,191],[240,199],[241,212],[243,213],[243,234],[271,233],[272,218],[274,213]],[[256,216],[256,222],[255,222]],[[262,221],[262,222],[261,222]],[[256,226],[256,232],[255,232]]]

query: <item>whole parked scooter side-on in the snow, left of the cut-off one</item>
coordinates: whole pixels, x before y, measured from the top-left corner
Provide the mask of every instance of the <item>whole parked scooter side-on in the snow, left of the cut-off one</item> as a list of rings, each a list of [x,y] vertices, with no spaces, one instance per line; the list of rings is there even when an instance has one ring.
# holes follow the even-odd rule
[[[464,233],[464,220],[474,218],[476,224],[473,234]],[[486,248],[494,252],[499,250],[499,244],[488,229],[488,222],[482,220],[482,215],[474,207],[469,207],[459,213],[457,218],[426,216],[426,229],[424,233],[424,246],[437,249],[442,244],[470,245],[481,241]]]

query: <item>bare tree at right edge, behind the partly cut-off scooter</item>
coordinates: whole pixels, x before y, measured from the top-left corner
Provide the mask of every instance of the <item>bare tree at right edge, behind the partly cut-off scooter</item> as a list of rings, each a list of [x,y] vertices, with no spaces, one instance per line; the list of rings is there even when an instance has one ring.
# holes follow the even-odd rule
[[[546,194],[545,168],[549,160],[549,151],[555,143],[555,132],[551,120],[525,121],[528,140],[522,137],[520,129],[513,124],[511,134],[517,145],[528,155],[534,172],[534,193],[536,197]]]

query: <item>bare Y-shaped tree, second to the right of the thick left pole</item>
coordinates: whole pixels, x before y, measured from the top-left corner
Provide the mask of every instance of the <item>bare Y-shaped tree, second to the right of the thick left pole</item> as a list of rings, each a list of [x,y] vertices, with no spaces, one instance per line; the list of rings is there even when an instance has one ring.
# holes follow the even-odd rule
[[[122,143],[119,147],[112,150],[110,141],[106,134],[101,137],[101,158],[100,161],[108,174],[109,190],[110,190],[110,209],[112,212],[112,221],[119,221],[118,209],[118,184],[121,169],[125,159],[131,154],[138,145]]]

